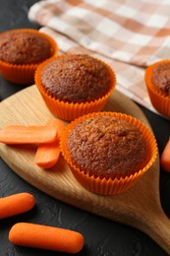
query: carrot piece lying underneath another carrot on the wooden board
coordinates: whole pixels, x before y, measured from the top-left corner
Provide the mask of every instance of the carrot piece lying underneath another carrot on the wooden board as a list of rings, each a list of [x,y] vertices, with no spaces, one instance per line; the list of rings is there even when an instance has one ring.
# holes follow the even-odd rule
[[[52,167],[60,156],[59,140],[64,130],[64,123],[59,119],[51,119],[47,122],[47,126],[54,126],[58,132],[58,140],[51,143],[39,144],[34,162],[42,168]]]

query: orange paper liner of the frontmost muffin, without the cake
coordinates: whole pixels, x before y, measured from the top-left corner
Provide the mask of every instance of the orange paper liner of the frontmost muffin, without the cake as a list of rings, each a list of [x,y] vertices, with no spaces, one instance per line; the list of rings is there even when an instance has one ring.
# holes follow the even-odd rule
[[[121,177],[120,179],[117,179],[117,178],[100,179],[99,177],[95,178],[93,175],[89,176],[88,174],[85,174],[83,170],[81,170],[78,166],[76,166],[73,163],[72,158],[69,154],[69,150],[67,148],[68,134],[80,121],[83,121],[86,118],[90,118],[92,116],[97,116],[97,115],[113,116],[122,120],[126,120],[141,130],[142,135],[145,139],[146,150],[147,150],[147,156],[146,156],[146,159],[143,161],[142,169],[139,169],[139,171],[136,172],[135,174],[132,174],[131,176],[126,176],[125,178]],[[63,133],[63,136],[60,142],[60,147],[61,147],[62,155],[64,159],[67,161],[68,165],[70,166],[70,169],[72,170],[75,178],[88,191],[96,194],[101,194],[101,195],[115,195],[123,191],[126,191],[128,188],[132,187],[142,177],[142,175],[146,172],[146,170],[152,165],[152,163],[154,162],[157,156],[157,144],[152,132],[141,121],[139,121],[135,117],[132,117],[130,115],[123,114],[123,113],[117,113],[117,112],[95,112],[95,113],[84,115],[76,119],[75,121],[72,121],[66,127]]]

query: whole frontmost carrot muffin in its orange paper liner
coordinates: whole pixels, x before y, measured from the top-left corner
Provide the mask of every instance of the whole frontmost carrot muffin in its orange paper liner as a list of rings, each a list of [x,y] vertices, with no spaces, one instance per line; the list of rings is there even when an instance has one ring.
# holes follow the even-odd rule
[[[114,194],[115,180],[116,191],[123,191],[151,164],[156,155],[156,144],[154,142],[150,148],[150,141],[153,142],[154,137],[137,119],[125,114],[100,112],[72,122],[63,135],[61,149],[85,188],[96,193]]]

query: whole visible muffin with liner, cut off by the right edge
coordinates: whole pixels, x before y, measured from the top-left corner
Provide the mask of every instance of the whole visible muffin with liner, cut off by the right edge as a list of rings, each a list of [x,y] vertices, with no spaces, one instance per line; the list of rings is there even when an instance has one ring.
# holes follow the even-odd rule
[[[154,108],[170,117],[170,60],[159,61],[147,67],[145,84]]]

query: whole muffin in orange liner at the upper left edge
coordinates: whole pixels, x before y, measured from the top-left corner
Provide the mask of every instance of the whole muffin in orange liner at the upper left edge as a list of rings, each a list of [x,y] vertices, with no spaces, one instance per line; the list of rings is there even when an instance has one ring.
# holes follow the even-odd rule
[[[37,65],[52,57],[57,50],[57,44],[50,36],[36,30],[19,29],[2,32],[0,72],[11,82],[33,83]]]

